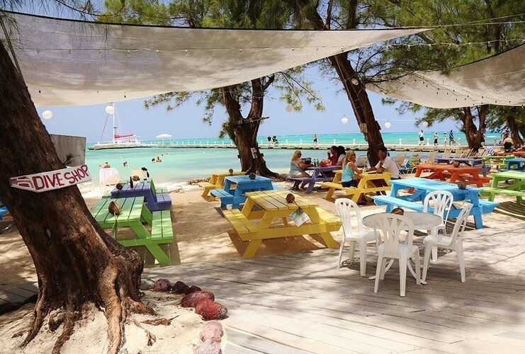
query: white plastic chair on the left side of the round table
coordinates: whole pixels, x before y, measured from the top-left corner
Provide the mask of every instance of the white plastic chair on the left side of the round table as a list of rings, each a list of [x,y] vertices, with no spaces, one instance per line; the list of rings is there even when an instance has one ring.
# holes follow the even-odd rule
[[[337,263],[337,268],[341,268],[341,258],[343,256],[344,243],[350,241],[350,253],[349,261],[354,263],[354,251],[356,244],[359,244],[359,262],[361,277],[366,275],[366,242],[375,241],[376,234],[373,231],[365,231],[363,229],[363,222],[361,219],[361,212],[356,202],[348,198],[339,198],[335,201],[335,209],[337,214],[341,218],[341,223],[343,225],[343,239],[341,239],[341,246],[339,246],[339,262]],[[357,222],[357,232],[352,230],[352,222],[350,212],[354,209],[356,211],[356,222]]]

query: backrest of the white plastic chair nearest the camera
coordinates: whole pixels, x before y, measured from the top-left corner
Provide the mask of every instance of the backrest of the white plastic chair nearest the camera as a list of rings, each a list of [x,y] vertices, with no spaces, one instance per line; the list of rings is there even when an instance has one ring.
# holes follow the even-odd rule
[[[397,256],[400,253],[400,233],[407,232],[405,244],[412,248],[414,223],[408,217],[388,212],[373,215],[371,219],[379,243],[384,244],[385,256]]]

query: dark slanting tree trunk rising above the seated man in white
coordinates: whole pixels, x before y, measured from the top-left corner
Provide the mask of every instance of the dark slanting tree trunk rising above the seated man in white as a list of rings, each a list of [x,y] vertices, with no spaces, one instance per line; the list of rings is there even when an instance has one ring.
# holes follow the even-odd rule
[[[315,30],[330,30],[329,23],[323,21],[317,12],[317,8],[313,7],[310,0],[297,1],[301,8],[307,8],[306,18]],[[349,2],[349,20],[346,23],[347,29],[356,28],[357,6],[357,1],[352,0]],[[330,21],[330,18],[328,18],[327,21]],[[366,127],[363,135],[368,143],[368,161],[371,166],[375,166],[379,161],[378,150],[384,148],[385,143],[380,133],[380,126],[373,115],[373,108],[368,98],[365,85],[359,81],[356,71],[351,66],[347,53],[334,55],[328,59],[332,67],[336,70],[337,75],[339,75],[346,96],[348,96],[351,106],[354,109],[354,115],[359,126]],[[357,80],[357,84],[353,84],[352,80]]]

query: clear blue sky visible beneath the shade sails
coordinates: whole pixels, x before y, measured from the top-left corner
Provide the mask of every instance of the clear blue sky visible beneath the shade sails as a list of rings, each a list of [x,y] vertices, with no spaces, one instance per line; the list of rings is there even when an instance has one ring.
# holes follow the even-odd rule
[[[326,107],[324,112],[318,112],[312,106],[303,105],[300,112],[286,112],[286,103],[279,101],[278,93],[274,92],[264,103],[265,120],[259,129],[260,136],[266,135],[304,135],[304,134],[337,134],[355,133],[359,128],[351,109],[351,105],[344,92],[339,91],[340,81],[327,81],[317,72],[311,69],[309,79],[322,102]],[[382,132],[417,132],[415,115],[407,113],[399,115],[393,106],[383,105],[381,96],[376,93],[368,93],[371,98],[376,119],[383,127]],[[103,105],[84,105],[68,108],[38,108],[40,117],[46,109],[51,110],[53,117],[43,122],[47,131],[52,134],[77,135],[86,137],[87,142],[98,142],[101,140],[104,123],[106,121],[105,108],[110,102]],[[119,129],[123,133],[134,132],[143,140],[154,139],[160,134],[173,135],[174,139],[185,138],[214,138],[220,132],[220,126],[226,118],[225,110],[218,108],[212,125],[202,121],[204,109],[197,107],[195,100],[189,101],[181,108],[166,113],[164,106],[145,109],[144,100],[124,101],[116,103],[117,115],[120,120]],[[245,108],[243,113],[247,113]],[[346,114],[349,122],[341,124],[342,115]],[[386,120],[390,120],[392,127],[384,128]],[[425,131],[445,131],[456,127],[452,121],[434,125]],[[111,121],[106,126],[106,138],[111,138]]]

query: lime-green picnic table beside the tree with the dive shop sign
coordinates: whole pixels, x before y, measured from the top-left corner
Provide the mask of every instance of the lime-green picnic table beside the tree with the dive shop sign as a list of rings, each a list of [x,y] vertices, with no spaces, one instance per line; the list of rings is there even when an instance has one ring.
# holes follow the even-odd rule
[[[120,205],[122,210],[119,215],[113,215],[108,211],[109,203],[112,201]],[[112,229],[113,238],[116,238],[118,227],[130,227],[137,236],[135,239],[116,240],[119,244],[127,247],[145,246],[159,264],[170,264],[169,256],[159,246],[171,244],[174,240],[169,210],[149,212],[143,201],[143,197],[103,198],[91,207],[90,211],[103,229]],[[142,222],[151,226],[151,233]]]

